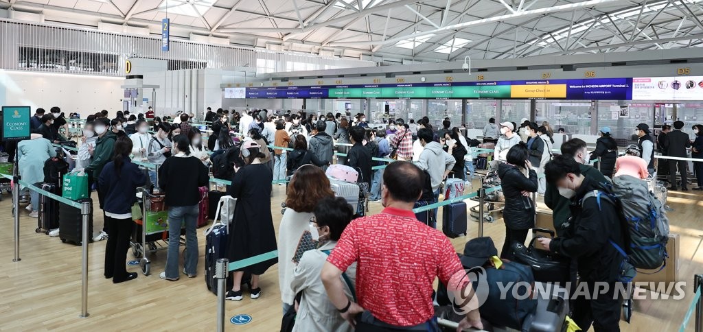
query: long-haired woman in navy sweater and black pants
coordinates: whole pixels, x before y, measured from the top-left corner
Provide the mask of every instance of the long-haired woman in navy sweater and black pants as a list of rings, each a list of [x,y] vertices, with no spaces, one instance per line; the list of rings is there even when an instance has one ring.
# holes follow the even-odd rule
[[[137,277],[134,272],[127,273],[125,267],[129,239],[134,223],[131,218],[131,206],[136,201],[136,188],[146,184],[146,175],[139,166],[131,163],[129,154],[132,141],[127,137],[117,138],[115,154],[100,173],[98,186],[105,193],[105,218],[108,218],[108,244],[105,246],[105,278],[119,284]]]

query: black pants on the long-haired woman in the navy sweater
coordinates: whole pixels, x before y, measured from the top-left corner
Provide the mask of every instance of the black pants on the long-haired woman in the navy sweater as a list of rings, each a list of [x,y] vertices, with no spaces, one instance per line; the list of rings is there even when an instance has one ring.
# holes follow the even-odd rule
[[[105,246],[105,277],[120,281],[127,279],[127,251],[134,222],[131,218],[115,219],[105,217],[105,224],[110,220],[108,244]]]

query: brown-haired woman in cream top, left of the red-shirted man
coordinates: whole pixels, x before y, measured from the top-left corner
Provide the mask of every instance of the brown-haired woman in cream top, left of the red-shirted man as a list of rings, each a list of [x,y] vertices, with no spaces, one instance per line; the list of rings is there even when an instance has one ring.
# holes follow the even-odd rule
[[[278,227],[278,286],[283,313],[290,310],[293,292],[290,286],[293,279],[295,263],[292,258],[300,237],[309,228],[316,204],[321,199],[334,197],[330,180],[321,168],[305,164],[293,173],[286,192],[285,211]],[[351,208],[350,208],[351,209]]]

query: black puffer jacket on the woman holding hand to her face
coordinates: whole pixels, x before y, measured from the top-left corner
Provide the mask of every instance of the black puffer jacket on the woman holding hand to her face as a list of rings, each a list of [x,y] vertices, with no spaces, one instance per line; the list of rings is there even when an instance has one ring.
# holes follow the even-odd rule
[[[537,191],[537,173],[529,170],[529,178],[519,168],[507,163],[498,166],[498,176],[501,177],[503,194],[505,194],[505,210],[503,219],[505,226],[511,230],[528,230],[534,227],[534,201],[531,197],[522,196],[522,191]],[[529,206],[526,208],[525,206]]]

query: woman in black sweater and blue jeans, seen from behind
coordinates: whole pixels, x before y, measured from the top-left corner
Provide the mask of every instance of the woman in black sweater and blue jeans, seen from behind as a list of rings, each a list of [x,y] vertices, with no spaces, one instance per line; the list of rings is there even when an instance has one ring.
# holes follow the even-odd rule
[[[164,190],[164,203],[169,207],[169,246],[166,269],[161,279],[179,279],[179,244],[181,226],[186,228],[186,257],[183,274],[194,278],[198,274],[198,213],[200,187],[205,187],[209,177],[207,167],[191,155],[191,142],[186,135],[174,136],[174,155],[159,168],[159,186]]]

